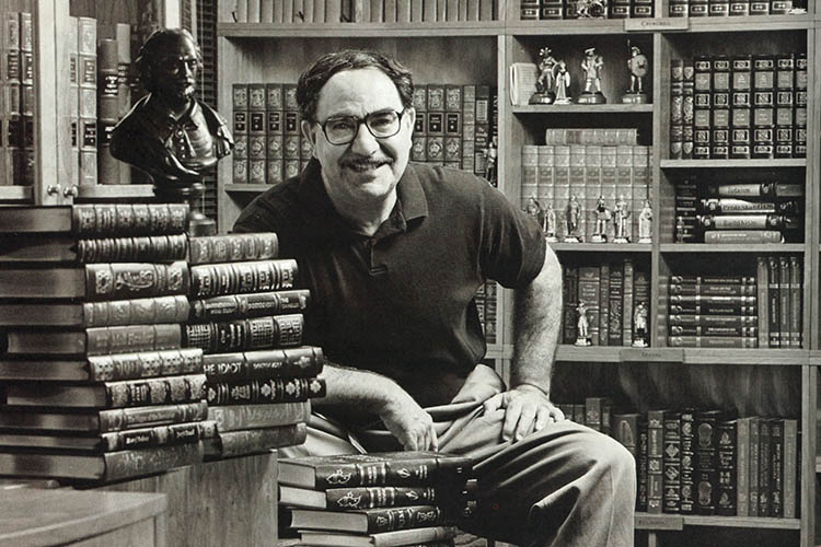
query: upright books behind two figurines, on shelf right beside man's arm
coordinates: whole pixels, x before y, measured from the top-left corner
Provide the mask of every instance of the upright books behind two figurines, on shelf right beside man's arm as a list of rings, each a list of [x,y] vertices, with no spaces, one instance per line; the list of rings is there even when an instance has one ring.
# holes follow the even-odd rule
[[[649,346],[650,269],[632,257],[603,263],[565,264],[564,344],[576,344],[583,303],[593,346]]]

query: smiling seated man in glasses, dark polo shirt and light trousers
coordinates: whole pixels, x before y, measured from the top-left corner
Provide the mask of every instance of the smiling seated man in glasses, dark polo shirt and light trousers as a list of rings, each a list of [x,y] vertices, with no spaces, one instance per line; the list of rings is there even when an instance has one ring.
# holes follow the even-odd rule
[[[548,396],[560,268],[537,222],[481,178],[408,164],[413,82],[394,60],[326,55],[297,97],[313,159],[234,226],[277,232],[297,258],[313,302],[304,339],[329,360],[315,406],[343,428],[312,420],[290,452],[469,454],[478,509],[466,529],[521,546],[631,545],[633,457]],[[486,278],[517,289],[512,387],[477,364]]]

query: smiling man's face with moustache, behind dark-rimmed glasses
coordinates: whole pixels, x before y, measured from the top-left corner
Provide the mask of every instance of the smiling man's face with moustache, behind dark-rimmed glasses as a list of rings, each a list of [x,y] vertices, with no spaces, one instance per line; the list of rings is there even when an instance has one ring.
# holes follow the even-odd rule
[[[360,124],[347,144],[332,144],[322,124],[331,117],[363,118],[388,109],[401,113],[403,106],[396,86],[385,73],[371,68],[345,70],[334,74],[320,91],[317,123],[302,121],[303,135],[313,144],[325,188],[335,202],[367,205],[391,195],[407,166],[416,115],[413,108],[405,109],[393,137],[377,138]]]

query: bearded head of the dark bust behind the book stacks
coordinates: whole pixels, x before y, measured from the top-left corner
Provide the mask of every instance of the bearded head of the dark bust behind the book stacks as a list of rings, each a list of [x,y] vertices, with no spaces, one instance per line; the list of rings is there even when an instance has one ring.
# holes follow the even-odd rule
[[[194,96],[198,70],[194,44],[184,36],[175,36],[154,61],[154,93],[171,105],[186,103]]]

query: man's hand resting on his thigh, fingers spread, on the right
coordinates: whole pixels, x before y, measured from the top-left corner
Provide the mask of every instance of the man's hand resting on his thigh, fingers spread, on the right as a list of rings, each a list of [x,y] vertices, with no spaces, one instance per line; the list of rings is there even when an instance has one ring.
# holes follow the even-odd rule
[[[485,412],[498,409],[505,409],[501,429],[505,441],[521,441],[548,423],[565,419],[564,412],[551,403],[544,392],[528,384],[494,395],[485,401]]]

